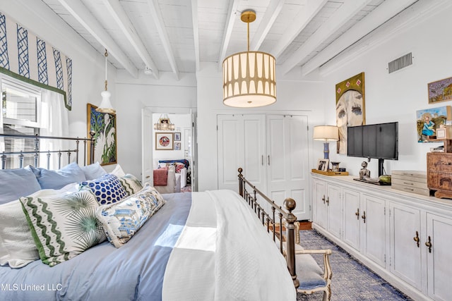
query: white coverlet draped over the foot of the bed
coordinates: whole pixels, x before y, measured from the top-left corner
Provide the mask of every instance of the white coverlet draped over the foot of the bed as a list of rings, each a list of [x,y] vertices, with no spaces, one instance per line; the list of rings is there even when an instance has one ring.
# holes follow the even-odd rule
[[[251,218],[250,218],[251,217]],[[231,190],[193,192],[167,263],[163,300],[295,300],[283,255]]]

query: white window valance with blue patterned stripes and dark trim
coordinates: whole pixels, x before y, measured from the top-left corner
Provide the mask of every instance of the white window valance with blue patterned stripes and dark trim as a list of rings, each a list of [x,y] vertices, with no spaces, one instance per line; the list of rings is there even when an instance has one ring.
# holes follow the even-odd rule
[[[0,73],[64,95],[72,107],[72,60],[0,13]]]

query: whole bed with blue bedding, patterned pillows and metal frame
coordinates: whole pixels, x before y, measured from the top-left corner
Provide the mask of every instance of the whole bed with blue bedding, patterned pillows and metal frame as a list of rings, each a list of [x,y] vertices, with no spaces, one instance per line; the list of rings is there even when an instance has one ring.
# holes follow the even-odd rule
[[[0,139],[5,136],[0,135]],[[75,161],[57,171],[33,166],[11,170],[18,174],[19,170],[31,170],[39,175],[40,189],[31,192],[30,184],[28,191],[16,192],[16,196],[22,194],[19,200],[0,200],[2,300],[296,299],[296,219],[290,212],[295,202],[287,202],[289,211],[277,207],[273,216],[266,214],[255,202],[256,189],[248,192],[244,188],[242,173],[239,193],[212,190],[160,194],[150,185],[141,186],[120,166],[106,173],[97,164],[85,166],[84,159],[78,162],[81,150],[80,140],[76,141],[77,147],[69,150],[76,152],[72,156]],[[40,152],[46,151],[36,147],[35,154]],[[87,152],[90,156],[92,150]],[[4,152],[6,155],[16,152]],[[52,178],[58,173],[71,181],[78,168],[85,180],[64,185],[49,180],[49,175]],[[8,170],[0,170],[0,178],[8,180]],[[100,200],[106,198],[99,196],[95,187],[106,181],[111,181],[108,185],[119,181],[127,195],[117,196],[117,202],[102,203]],[[56,186],[48,188],[49,183]],[[0,189],[6,190],[6,185]],[[4,192],[1,194],[8,195]],[[74,199],[76,204],[83,199],[83,210],[95,211],[96,222],[84,223],[92,227],[91,234],[95,233],[83,240],[87,242],[85,249],[70,239],[74,227],[69,221],[80,209],[72,206],[69,215],[58,216],[61,207]],[[17,224],[19,220],[21,224]],[[281,233],[269,230],[277,221],[286,222],[284,243],[278,240]],[[42,234],[49,231],[59,235]],[[34,250],[35,257],[33,247],[39,250]]]

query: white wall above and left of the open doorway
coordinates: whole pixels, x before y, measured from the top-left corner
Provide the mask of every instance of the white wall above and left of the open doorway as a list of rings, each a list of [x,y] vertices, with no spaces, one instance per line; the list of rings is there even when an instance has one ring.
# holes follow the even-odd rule
[[[160,73],[155,80],[141,73],[133,79],[125,70],[118,70],[116,97],[118,162],[126,173],[141,178],[141,110],[152,107],[155,112],[180,113],[183,108],[195,108],[195,76],[179,73],[177,80],[172,73]],[[148,135],[153,135],[153,128]]]

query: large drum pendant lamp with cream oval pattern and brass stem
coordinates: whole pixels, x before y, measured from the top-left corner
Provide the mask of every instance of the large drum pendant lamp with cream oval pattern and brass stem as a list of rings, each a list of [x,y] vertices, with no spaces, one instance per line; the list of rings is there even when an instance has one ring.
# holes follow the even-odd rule
[[[244,11],[248,51],[228,56],[223,61],[223,104],[239,108],[268,106],[276,102],[275,58],[261,51],[249,51],[249,23],[256,12]]]

